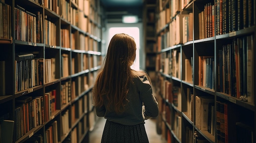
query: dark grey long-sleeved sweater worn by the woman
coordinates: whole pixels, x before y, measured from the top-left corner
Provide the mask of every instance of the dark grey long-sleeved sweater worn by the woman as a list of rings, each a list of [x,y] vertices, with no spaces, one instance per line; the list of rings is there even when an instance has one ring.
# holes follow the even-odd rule
[[[95,107],[97,116],[123,125],[137,125],[144,123],[145,119],[157,117],[158,105],[147,77],[137,77],[133,81],[133,84],[130,83],[127,95],[129,102],[123,113],[116,114],[114,111],[106,110],[105,107],[108,105],[108,101],[104,98],[105,106]],[[144,114],[142,114],[143,112]]]

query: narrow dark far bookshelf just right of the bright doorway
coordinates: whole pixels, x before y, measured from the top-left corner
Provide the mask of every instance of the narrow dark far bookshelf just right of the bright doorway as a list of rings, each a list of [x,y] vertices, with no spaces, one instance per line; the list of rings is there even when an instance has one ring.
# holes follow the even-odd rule
[[[144,0],[143,7],[144,43],[145,43],[145,65],[146,72],[151,80],[155,81],[155,61],[156,61],[156,0]]]

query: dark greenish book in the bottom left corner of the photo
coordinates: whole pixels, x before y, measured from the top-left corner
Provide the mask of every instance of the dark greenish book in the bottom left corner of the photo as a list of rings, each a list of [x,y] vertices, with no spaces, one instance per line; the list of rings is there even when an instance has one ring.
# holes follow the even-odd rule
[[[13,143],[14,121],[4,120],[0,124],[1,143]]]

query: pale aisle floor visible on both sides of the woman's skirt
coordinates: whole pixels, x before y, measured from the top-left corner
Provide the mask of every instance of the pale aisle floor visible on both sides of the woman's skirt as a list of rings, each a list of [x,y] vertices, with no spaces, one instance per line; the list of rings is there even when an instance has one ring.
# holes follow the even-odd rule
[[[89,143],[100,143],[101,135],[105,125],[106,119],[100,117],[94,126],[94,130],[89,133]],[[162,136],[157,134],[156,119],[149,119],[145,121],[145,128],[148,135],[149,143],[166,143]]]

